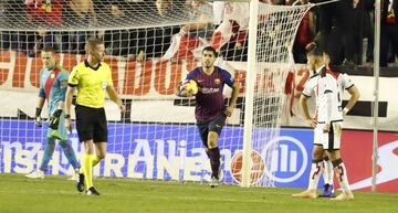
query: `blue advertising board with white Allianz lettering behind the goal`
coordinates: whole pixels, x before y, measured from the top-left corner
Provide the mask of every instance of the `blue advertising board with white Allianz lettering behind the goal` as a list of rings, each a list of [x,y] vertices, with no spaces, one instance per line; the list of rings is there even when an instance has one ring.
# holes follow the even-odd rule
[[[38,128],[32,120],[2,119],[0,131],[0,172],[29,173],[40,162],[45,145],[46,126]],[[102,177],[143,178],[179,181],[207,181],[210,164],[195,125],[109,124],[107,156],[95,167]],[[239,181],[231,171],[237,153],[242,150],[243,128],[227,126],[219,140],[224,183]],[[70,140],[77,156],[83,151],[76,132]],[[262,179],[273,179],[274,187],[305,188],[311,168],[312,129],[281,129],[280,136],[261,150],[262,160],[273,148],[272,162],[261,169]],[[46,173],[72,171],[57,149]],[[239,164],[239,163],[238,163]],[[259,171],[256,171],[259,172]],[[263,181],[259,180],[259,181]]]

